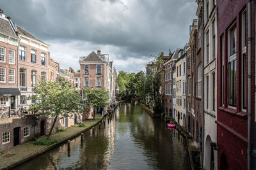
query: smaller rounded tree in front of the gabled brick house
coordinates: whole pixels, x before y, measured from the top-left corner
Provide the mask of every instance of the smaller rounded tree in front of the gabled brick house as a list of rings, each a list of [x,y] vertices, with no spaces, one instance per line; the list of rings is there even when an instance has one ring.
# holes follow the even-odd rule
[[[84,96],[87,97],[87,107],[88,108],[104,108],[109,104],[108,92],[105,89],[92,89],[91,87],[85,87]],[[93,119],[95,118],[95,113],[93,114]]]

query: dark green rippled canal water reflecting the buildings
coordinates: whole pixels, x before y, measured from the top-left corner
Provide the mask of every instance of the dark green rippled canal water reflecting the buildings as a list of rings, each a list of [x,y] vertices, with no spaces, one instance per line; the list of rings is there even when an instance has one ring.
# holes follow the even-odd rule
[[[109,123],[70,143],[70,153],[65,144],[14,169],[191,169],[185,138],[140,104],[120,104]]]

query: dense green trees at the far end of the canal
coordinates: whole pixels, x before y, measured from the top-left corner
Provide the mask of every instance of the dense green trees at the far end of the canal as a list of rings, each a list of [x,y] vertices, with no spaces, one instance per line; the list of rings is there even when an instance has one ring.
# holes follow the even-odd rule
[[[125,73],[120,71],[117,76],[119,96],[127,99],[138,99],[146,104],[154,113],[161,113],[161,94],[159,92],[159,68],[163,64],[160,57],[155,57],[150,62],[150,69],[145,75],[143,71],[138,73]]]

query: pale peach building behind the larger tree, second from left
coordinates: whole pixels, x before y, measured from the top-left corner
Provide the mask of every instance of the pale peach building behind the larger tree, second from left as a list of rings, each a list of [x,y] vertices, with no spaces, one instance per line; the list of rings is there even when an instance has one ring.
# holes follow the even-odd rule
[[[40,80],[49,80],[49,45],[17,26],[19,42],[19,89],[18,104],[28,108],[35,100],[27,97],[35,95],[33,90]]]

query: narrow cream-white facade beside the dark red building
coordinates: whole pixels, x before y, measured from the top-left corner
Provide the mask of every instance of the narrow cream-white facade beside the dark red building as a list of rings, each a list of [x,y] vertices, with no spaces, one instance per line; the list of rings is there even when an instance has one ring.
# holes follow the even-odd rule
[[[217,142],[216,82],[217,41],[216,1],[204,1],[204,168],[217,169],[217,150],[211,142]]]

